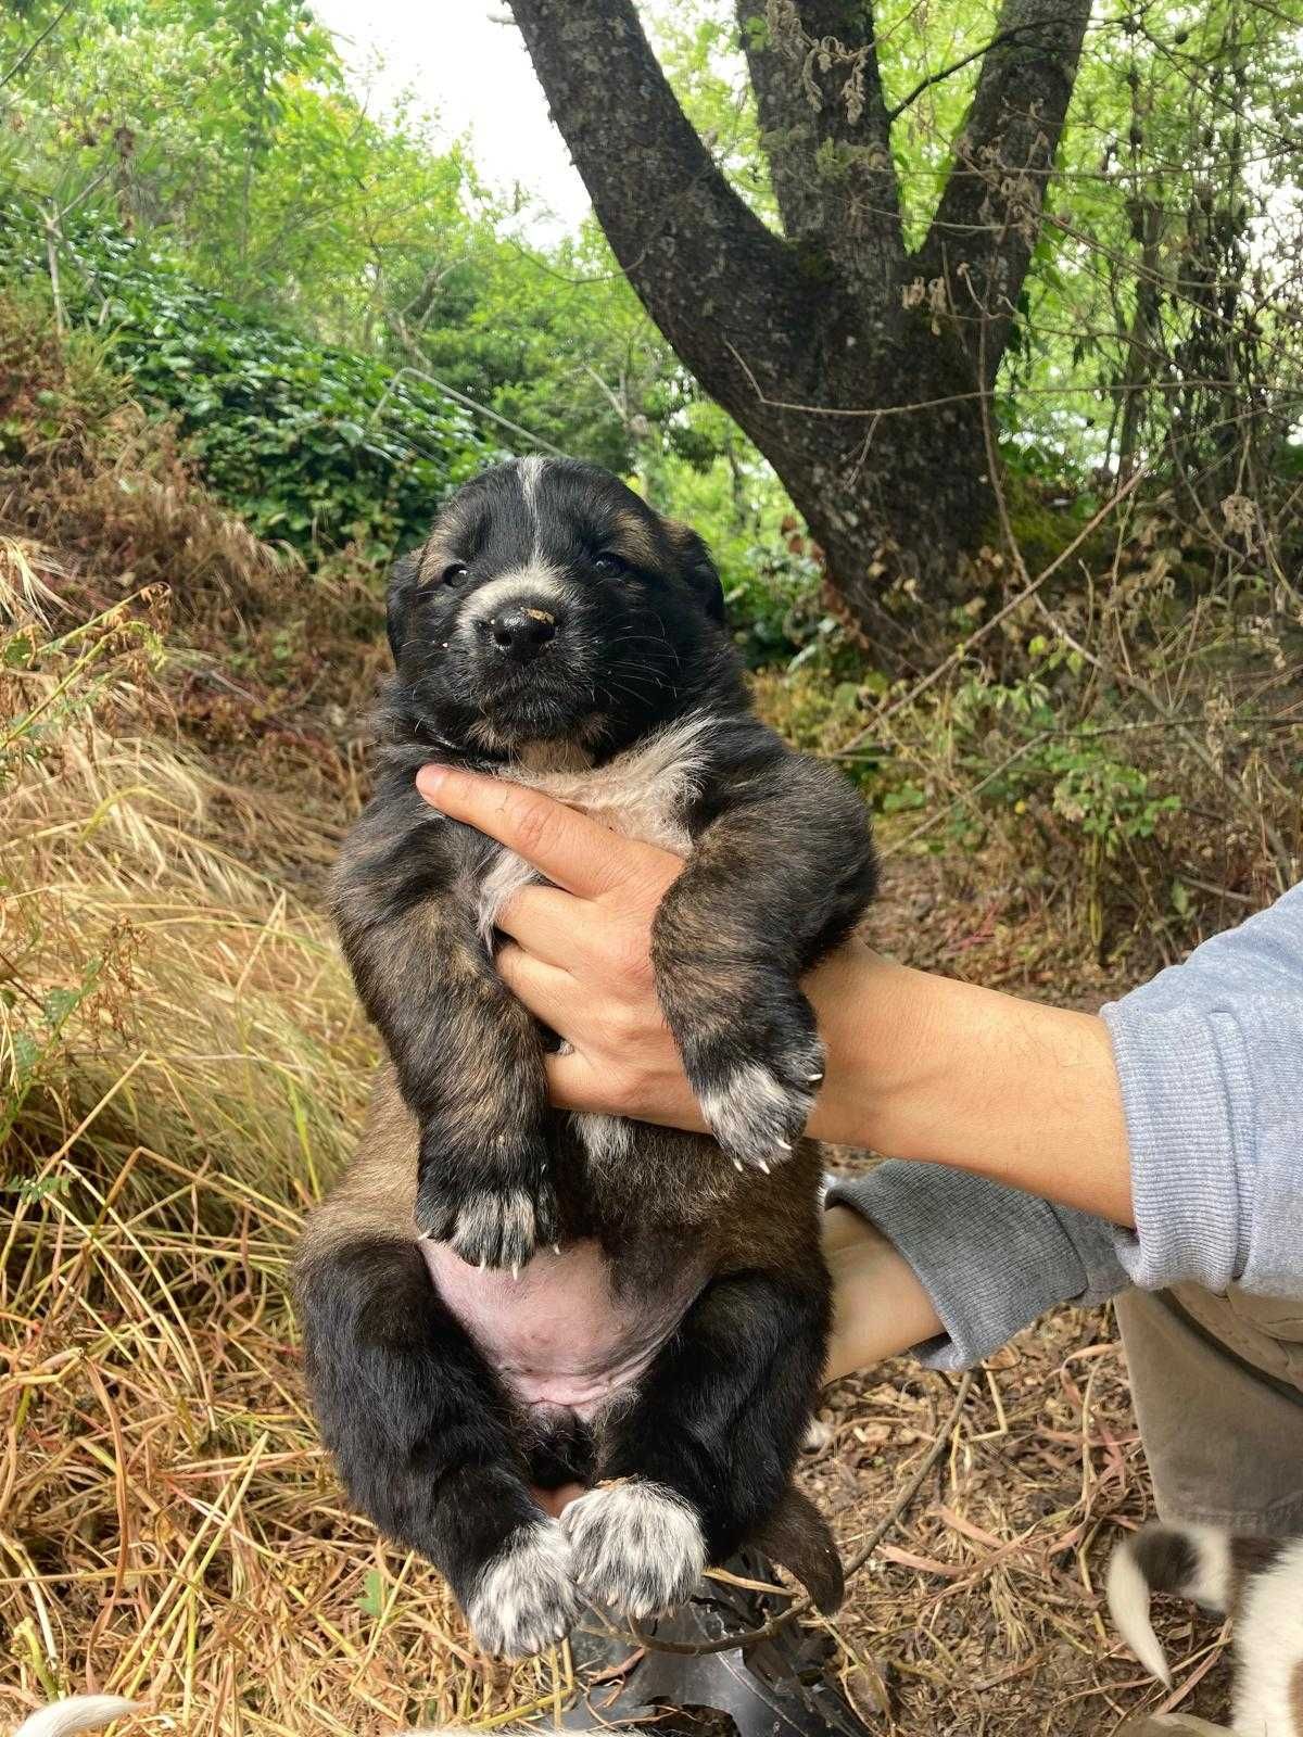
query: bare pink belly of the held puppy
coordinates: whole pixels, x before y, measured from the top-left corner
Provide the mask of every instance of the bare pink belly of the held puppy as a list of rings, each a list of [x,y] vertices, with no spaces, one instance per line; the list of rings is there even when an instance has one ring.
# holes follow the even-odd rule
[[[420,1251],[440,1296],[516,1397],[580,1417],[638,1381],[705,1277],[685,1263],[655,1296],[617,1298],[591,1240],[535,1254],[519,1278],[481,1273],[446,1242]]]

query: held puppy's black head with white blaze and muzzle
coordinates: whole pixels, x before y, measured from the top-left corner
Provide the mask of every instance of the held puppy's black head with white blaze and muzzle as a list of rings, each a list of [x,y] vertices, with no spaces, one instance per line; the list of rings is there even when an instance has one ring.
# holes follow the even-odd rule
[[[728,667],[723,617],[695,532],[596,466],[516,459],[394,568],[398,702],[471,749],[618,747]]]

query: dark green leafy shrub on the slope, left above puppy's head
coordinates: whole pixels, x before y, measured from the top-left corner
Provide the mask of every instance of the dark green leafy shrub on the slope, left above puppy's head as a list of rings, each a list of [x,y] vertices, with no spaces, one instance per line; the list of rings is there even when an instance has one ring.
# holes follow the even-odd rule
[[[38,236],[35,214],[0,205],[10,273],[43,273]],[[175,420],[207,486],[259,537],[389,552],[495,455],[420,380],[268,325],[120,229],[73,231],[61,280],[68,318],[111,339],[136,396]]]

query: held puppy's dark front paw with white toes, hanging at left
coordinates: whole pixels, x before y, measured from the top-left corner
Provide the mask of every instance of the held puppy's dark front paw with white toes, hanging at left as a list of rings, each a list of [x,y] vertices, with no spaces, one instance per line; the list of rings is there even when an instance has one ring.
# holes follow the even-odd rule
[[[450,1242],[471,1266],[519,1270],[540,1242],[556,1242],[556,1193],[542,1155],[511,1153],[513,1162],[459,1164],[446,1152],[422,1164],[417,1228]],[[493,1174],[500,1171],[500,1174]]]

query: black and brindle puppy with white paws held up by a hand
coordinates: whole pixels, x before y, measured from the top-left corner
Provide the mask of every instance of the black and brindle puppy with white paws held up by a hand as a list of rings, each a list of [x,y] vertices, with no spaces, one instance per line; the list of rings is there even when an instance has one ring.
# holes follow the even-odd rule
[[[391,1067],[297,1263],[351,1497],[526,1654],[582,1595],[646,1617],[745,1541],[829,1605],[790,1490],[829,1282],[801,974],[874,889],[863,806],[747,710],[702,542],[591,466],[469,483],[389,596],[396,676],[335,915]],[[653,926],[714,1138],[549,1108],[547,1034],[493,969],[532,879],[415,792],[427,761],[547,790],[686,867]],[[551,1520],[530,1485],[592,1485]]]

